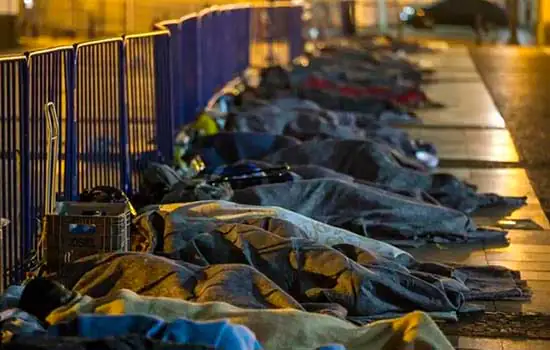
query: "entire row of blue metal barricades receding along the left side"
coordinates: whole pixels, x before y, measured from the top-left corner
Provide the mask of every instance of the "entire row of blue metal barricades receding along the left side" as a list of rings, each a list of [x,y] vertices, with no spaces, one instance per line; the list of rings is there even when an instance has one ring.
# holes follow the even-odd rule
[[[0,59],[0,218],[11,221],[0,240],[0,288],[23,277],[22,260],[36,248],[44,105],[54,103],[62,127],[55,192],[76,199],[110,185],[131,193],[140,161],[171,160],[175,129],[251,65],[251,42],[260,55],[274,44],[285,61],[302,53],[301,17],[288,3],[213,7],[156,25],[165,31]]]

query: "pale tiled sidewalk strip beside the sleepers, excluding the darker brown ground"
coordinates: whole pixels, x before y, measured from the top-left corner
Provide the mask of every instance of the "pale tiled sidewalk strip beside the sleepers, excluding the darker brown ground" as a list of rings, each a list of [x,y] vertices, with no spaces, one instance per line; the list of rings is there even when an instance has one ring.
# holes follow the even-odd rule
[[[409,129],[411,136],[434,142],[440,152],[441,172],[455,174],[479,186],[481,192],[527,196],[528,205],[507,216],[510,221],[532,220],[538,229],[510,231],[510,245],[439,245],[412,250],[420,260],[473,265],[501,265],[521,271],[533,291],[529,302],[486,302],[489,312],[550,314],[550,224],[522,167],[514,140],[497,110],[465,47],[451,47],[438,55],[417,56],[430,61],[440,82],[427,85],[430,98],[446,109],[419,111],[425,125]],[[445,165],[445,164],[450,165]],[[479,224],[501,216],[476,215]],[[479,303],[478,303],[479,304]],[[550,349],[550,341],[450,337],[460,349]]]

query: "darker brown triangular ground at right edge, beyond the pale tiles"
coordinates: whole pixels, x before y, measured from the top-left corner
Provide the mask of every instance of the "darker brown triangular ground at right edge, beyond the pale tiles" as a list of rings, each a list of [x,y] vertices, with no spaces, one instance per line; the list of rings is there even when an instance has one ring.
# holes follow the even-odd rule
[[[547,213],[550,211],[549,54],[533,48],[472,50]]]

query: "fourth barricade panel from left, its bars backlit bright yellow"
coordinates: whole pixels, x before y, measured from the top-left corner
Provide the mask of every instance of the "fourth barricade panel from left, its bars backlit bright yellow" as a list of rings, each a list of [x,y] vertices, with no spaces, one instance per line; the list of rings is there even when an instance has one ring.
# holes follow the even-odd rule
[[[142,165],[172,160],[170,33],[127,36],[125,49],[128,143],[136,191]]]

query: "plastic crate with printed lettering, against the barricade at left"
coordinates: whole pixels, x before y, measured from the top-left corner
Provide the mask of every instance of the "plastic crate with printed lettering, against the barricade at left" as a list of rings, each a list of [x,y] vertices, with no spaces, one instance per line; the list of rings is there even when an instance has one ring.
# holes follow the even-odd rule
[[[128,251],[131,222],[125,203],[57,203],[56,213],[44,218],[48,271],[94,254]]]

